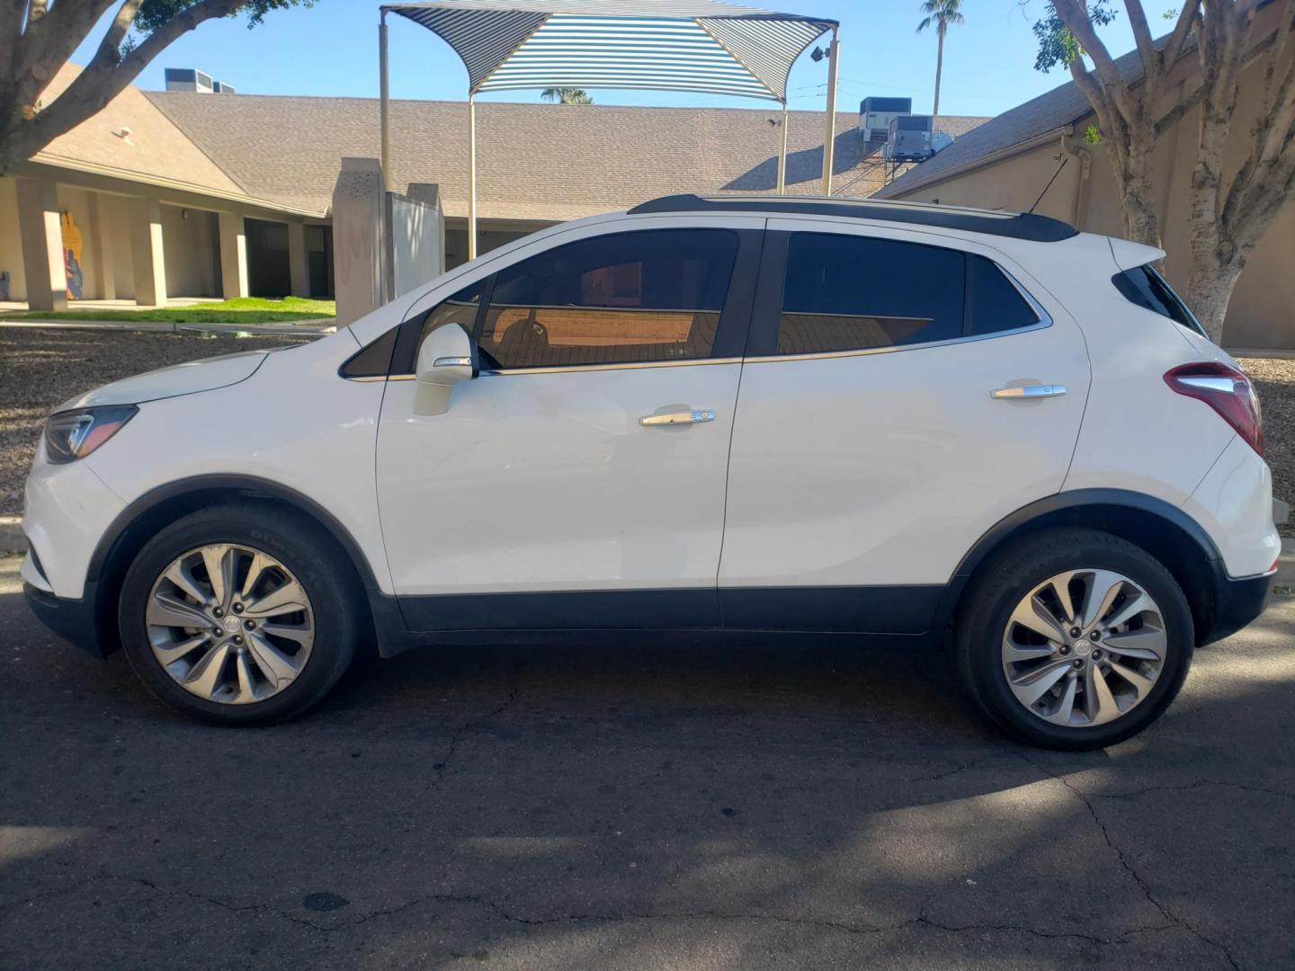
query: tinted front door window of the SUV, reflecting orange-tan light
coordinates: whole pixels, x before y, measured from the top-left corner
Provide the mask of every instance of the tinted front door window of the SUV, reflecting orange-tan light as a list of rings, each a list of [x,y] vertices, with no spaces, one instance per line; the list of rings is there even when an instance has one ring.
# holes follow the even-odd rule
[[[618,233],[558,246],[500,271],[480,334],[492,368],[707,357],[737,234]]]

